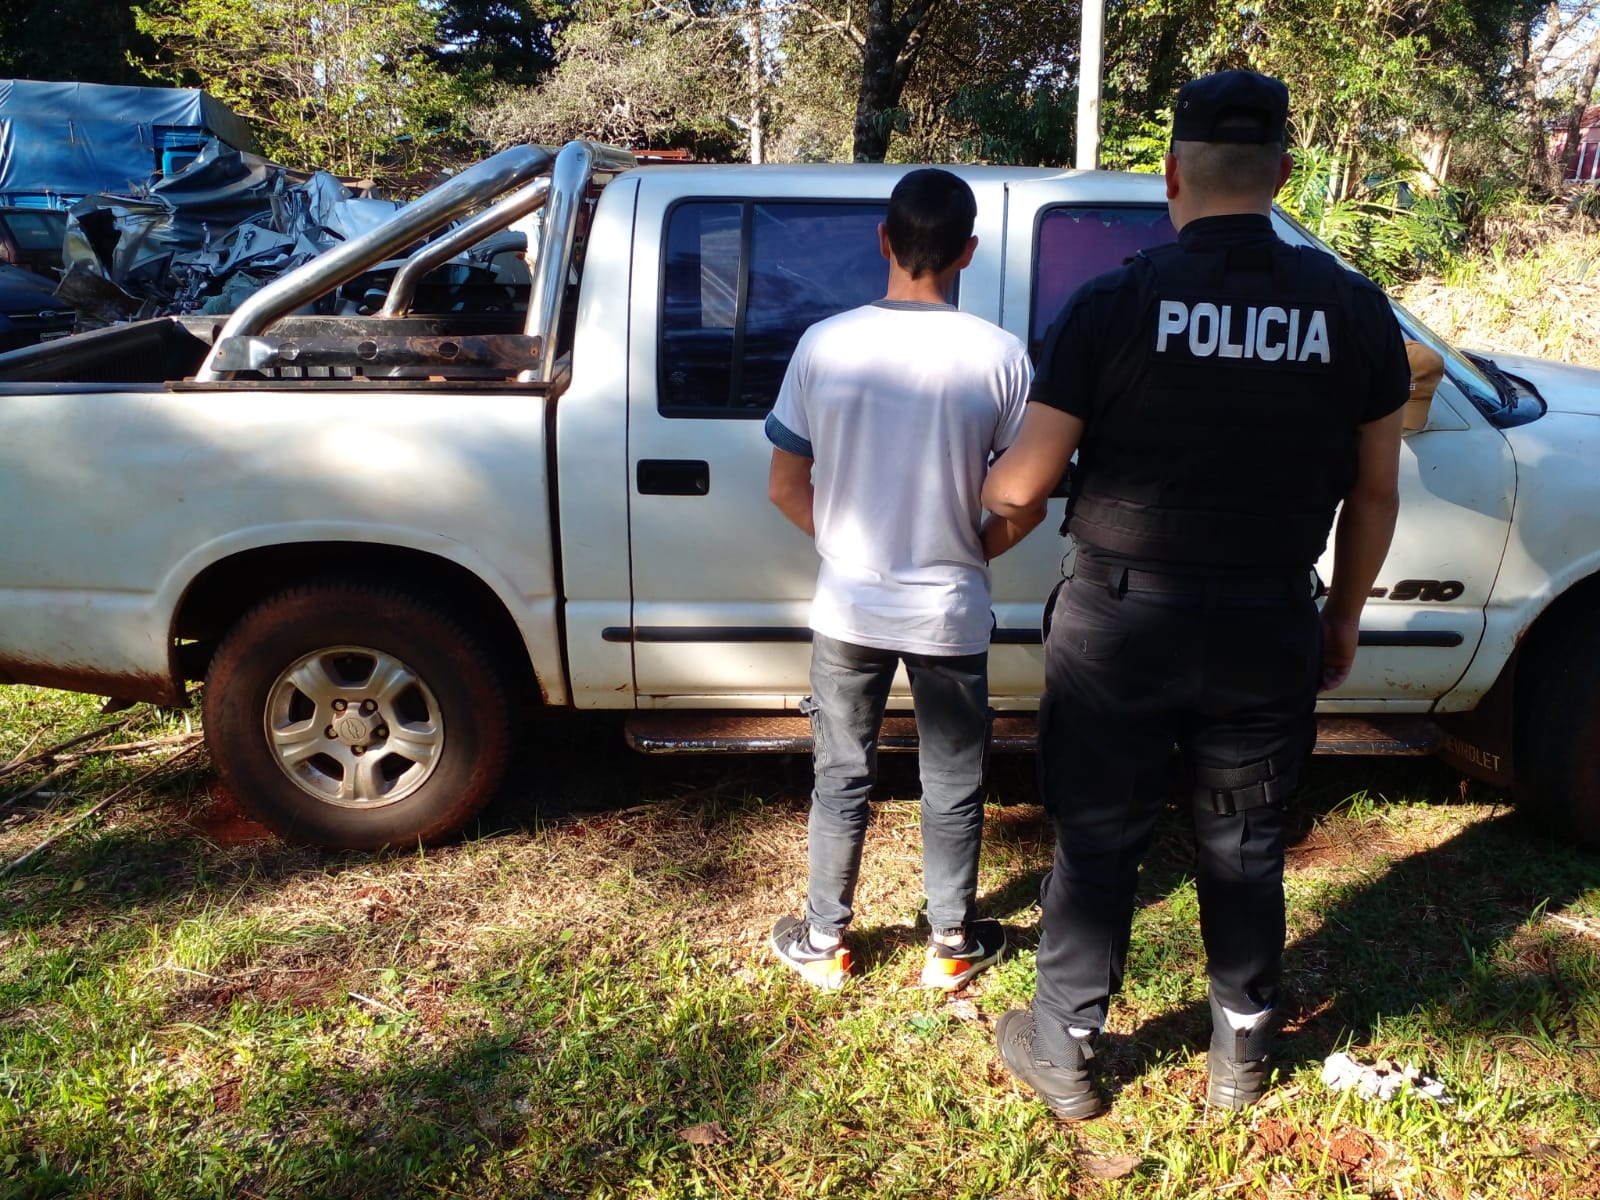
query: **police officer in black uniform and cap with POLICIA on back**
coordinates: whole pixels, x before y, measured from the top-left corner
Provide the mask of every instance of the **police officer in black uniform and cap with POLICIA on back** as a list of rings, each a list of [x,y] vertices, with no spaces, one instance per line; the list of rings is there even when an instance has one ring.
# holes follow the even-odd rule
[[[998,517],[1037,523],[1078,453],[1077,565],[1054,600],[1040,701],[1056,853],[1038,986],[1032,1010],[997,1027],[1006,1067],[1064,1118],[1104,1107],[1090,1059],[1174,746],[1210,976],[1208,1101],[1259,1099],[1285,938],[1283,802],[1394,534],[1400,328],[1373,283],[1272,232],[1286,115],[1283,83],[1248,70],[1178,93],[1178,243],[1067,301],[982,493]],[[1310,568],[1341,501],[1318,614]]]

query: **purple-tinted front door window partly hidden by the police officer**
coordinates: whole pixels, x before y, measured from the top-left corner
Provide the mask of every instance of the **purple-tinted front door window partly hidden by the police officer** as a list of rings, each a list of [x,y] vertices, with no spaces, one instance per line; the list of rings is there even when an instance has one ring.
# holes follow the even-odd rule
[[[1146,246],[1176,238],[1165,206],[1072,205],[1040,213],[1034,238],[1034,315],[1027,326],[1034,360],[1038,360],[1045,330],[1080,283],[1120,267]]]

